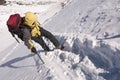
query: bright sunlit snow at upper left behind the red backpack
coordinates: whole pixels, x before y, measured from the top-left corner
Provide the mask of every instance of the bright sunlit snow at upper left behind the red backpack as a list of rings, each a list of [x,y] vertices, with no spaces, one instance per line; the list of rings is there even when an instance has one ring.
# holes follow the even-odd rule
[[[0,51],[3,51],[7,46],[14,43],[14,39],[11,37],[10,33],[7,30],[6,21],[9,18],[10,14],[19,13],[21,16],[24,16],[26,11],[33,11],[37,13],[38,20],[41,24],[45,23],[47,19],[52,17],[55,13],[59,12],[62,8],[61,3],[66,3],[66,0],[46,0],[46,1],[34,1],[34,0],[6,0],[6,5],[0,6]],[[41,4],[44,3],[44,4]],[[28,5],[27,5],[28,4]],[[67,4],[67,3],[66,3]],[[7,44],[6,44],[7,43]]]

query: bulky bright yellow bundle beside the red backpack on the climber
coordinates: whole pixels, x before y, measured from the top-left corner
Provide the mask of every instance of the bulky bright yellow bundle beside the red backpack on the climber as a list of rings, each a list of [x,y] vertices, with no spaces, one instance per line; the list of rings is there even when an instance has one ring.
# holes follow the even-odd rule
[[[33,37],[40,36],[40,23],[37,21],[37,15],[32,12],[25,13],[24,24],[31,28],[31,35]]]

